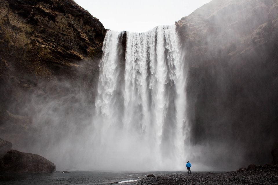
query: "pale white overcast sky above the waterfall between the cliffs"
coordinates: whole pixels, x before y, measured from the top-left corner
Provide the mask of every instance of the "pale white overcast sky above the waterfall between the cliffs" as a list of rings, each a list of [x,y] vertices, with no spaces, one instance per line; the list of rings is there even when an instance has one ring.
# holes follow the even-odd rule
[[[171,25],[211,0],[74,0],[103,26],[115,31],[147,32]]]

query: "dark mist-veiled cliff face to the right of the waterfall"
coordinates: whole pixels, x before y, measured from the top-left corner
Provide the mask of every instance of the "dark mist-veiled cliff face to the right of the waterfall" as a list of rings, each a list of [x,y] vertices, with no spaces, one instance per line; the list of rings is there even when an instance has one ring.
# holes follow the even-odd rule
[[[278,133],[277,12],[277,0],[213,0],[175,23],[188,64],[191,131],[185,142],[208,146],[200,154],[203,164],[227,169],[226,161],[236,161],[230,163],[235,169],[272,160]],[[216,148],[221,152],[215,155]]]

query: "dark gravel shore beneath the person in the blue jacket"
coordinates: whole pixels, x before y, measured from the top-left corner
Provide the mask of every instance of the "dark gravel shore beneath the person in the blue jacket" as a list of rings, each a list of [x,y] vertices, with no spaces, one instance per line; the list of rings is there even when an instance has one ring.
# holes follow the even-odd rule
[[[278,166],[272,169],[241,170],[226,173],[192,173],[175,175],[158,175],[156,177],[145,177],[138,181],[144,184],[173,184],[173,185],[199,185],[199,184],[278,184]]]

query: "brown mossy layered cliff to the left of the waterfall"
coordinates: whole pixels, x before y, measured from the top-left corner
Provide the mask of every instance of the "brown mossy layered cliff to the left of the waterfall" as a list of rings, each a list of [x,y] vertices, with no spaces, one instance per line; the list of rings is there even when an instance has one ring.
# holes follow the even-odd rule
[[[0,20],[0,127],[12,142],[41,111],[30,105],[34,97],[58,100],[85,88],[94,102],[106,33],[97,18],[72,0],[0,0]]]

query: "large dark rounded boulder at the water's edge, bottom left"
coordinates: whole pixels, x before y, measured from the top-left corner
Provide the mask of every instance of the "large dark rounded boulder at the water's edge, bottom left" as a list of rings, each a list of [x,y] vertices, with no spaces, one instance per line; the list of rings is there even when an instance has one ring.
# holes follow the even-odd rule
[[[0,160],[0,173],[52,173],[55,165],[42,156],[10,150]]]

